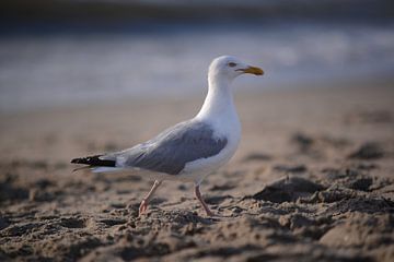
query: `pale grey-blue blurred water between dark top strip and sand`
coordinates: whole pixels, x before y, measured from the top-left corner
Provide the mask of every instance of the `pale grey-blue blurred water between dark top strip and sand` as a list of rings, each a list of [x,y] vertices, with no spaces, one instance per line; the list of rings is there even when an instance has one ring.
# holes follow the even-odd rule
[[[262,67],[239,86],[392,78],[394,24],[257,23],[153,26],[116,32],[0,36],[0,110],[124,97],[185,96],[207,88],[221,55]],[[321,83],[321,84],[320,84]]]

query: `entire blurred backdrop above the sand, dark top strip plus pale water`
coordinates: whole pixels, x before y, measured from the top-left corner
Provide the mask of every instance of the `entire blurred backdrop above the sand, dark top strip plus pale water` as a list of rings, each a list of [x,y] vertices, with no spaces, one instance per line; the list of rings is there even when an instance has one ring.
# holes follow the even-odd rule
[[[2,0],[0,17],[4,111],[204,94],[221,55],[267,72],[242,90],[394,79],[390,0]]]

